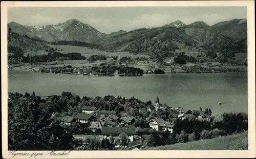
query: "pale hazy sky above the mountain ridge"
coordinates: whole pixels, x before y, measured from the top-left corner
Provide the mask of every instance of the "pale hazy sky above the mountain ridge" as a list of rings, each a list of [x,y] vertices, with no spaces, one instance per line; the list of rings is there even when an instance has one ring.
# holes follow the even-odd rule
[[[9,7],[8,22],[21,25],[56,25],[75,18],[102,33],[153,28],[181,20],[214,25],[247,18],[246,7]]]

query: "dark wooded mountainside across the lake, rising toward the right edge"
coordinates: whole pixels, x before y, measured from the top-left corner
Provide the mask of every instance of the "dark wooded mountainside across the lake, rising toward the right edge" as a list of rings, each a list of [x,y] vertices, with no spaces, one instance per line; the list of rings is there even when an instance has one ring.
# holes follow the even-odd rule
[[[132,54],[151,56],[168,55],[184,46],[203,46],[205,52],[231,52],[227,54],[230,56],[238,52],[247,52],[246,19],[233,19],[214,26],[208,26],[203,21],[186,26],[183,26],[181,21],[176,23],[182,27],[172,26],[171,23],[158,28],[137,29],[94,42],[101,44],[108,51],[129,51]]]

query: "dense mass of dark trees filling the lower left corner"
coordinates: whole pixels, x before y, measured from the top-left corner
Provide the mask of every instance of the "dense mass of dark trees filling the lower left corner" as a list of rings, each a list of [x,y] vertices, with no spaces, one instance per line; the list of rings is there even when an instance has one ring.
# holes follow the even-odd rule
[[[71,133],[33,98],[8,107],[9,150],[72,150]]]

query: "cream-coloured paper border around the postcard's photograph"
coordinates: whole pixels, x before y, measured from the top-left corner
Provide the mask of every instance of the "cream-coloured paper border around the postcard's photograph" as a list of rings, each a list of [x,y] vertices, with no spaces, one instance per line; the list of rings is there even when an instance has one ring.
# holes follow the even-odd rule
[[[96,2],[1,2],[2,99],[7,98],[7,7],[135,7],[135,6],[247,6],[248,24],[248,147],[247,151],[72,151],[68,156],[47,158],[240,158],[255,157],[255,26],[254,1],[96,1]],[[241,105],[243,106],[243,105]],[[2,150],[7,151],[7,100],[2,100]],[[25,152],[25,151],[18,151]],[[27,151],[28,152],[28,151]],[[49,152],[49,151],[34,151]],[[29,151],[32,153],[32,151]],[[16,156],[15,158],[29,158]],[[33,157],[31,157],[33,158]],[[46,158],[37,156],[36,158]]]

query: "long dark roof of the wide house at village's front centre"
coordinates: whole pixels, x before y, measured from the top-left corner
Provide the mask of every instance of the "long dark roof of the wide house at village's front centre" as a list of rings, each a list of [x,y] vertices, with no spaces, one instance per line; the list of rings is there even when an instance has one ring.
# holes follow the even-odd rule
[[[135,134],[135,127],[102,127],[101,134]]]

